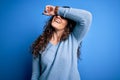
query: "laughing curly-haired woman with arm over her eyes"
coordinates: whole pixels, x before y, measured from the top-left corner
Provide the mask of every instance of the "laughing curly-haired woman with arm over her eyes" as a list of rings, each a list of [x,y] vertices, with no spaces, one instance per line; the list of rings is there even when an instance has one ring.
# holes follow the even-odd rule
[[[51,18],[32,45],[31,80],[80,80],[77,53],[89,30],[91,13],[47,5],[43,14]]]

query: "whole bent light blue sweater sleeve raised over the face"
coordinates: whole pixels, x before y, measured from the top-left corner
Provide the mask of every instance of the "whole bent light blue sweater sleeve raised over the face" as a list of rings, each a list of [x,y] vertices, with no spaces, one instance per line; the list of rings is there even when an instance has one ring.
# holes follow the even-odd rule
[[[59,7],[58,15],[69,18],[77,23],[72,34],[78,43],[80,43],[89,30],[92,21],[91,13],[82,9]]]

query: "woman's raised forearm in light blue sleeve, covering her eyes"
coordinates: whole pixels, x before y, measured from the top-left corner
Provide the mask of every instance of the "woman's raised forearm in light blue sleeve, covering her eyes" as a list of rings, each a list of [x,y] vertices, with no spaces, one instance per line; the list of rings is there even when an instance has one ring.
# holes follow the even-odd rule
[[[74,20],[75,22],[78,22],[78,23],[81,23],[81,21],[84,21],[86,25],[90,24],[92,19],[91,13],[82,9],[59,7],[57,14],[65,18]]]

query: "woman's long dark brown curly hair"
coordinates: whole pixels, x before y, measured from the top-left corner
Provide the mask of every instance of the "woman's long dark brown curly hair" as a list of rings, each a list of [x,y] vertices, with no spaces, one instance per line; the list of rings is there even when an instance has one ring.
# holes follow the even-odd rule
[[[66,8],[66,6],[65,6],[65,8]],[[53,33],[55,32],[55,29],[51,25],[53,17],[54,16],[52,16],[48,20],[48,22],[44,26],[43,33],[32,44],[32,54],[34,54],[36,57],[38,56],[39,52],[42,53],[45,50],[47,44],[49,43],[50,39],[52,38]],[[62,17],[62,18],[64,18],[64,17]],[[70,20],[68,18],[64,18],[64,19],[66,19],[68,21],[68,23],[64,29],[64,32],[60,38],[60,41],[65,41],[68,38],[68,35],[73,31],[73,29],[76,25],[75,21]],[[80,58],[80,54],[81,54],[81,52],[80,52],[81,43],[77,49],[77,57],[78,58]]]

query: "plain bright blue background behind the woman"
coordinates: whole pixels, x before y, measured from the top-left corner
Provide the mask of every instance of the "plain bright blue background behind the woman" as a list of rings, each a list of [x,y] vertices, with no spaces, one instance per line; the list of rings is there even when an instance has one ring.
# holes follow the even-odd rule
[[[48,17],[45,5],[68,5],[93,14],[82,46],[82,80],[120,80],[119,0],[0,0],[0,80],[30,80],[29,46]]]

